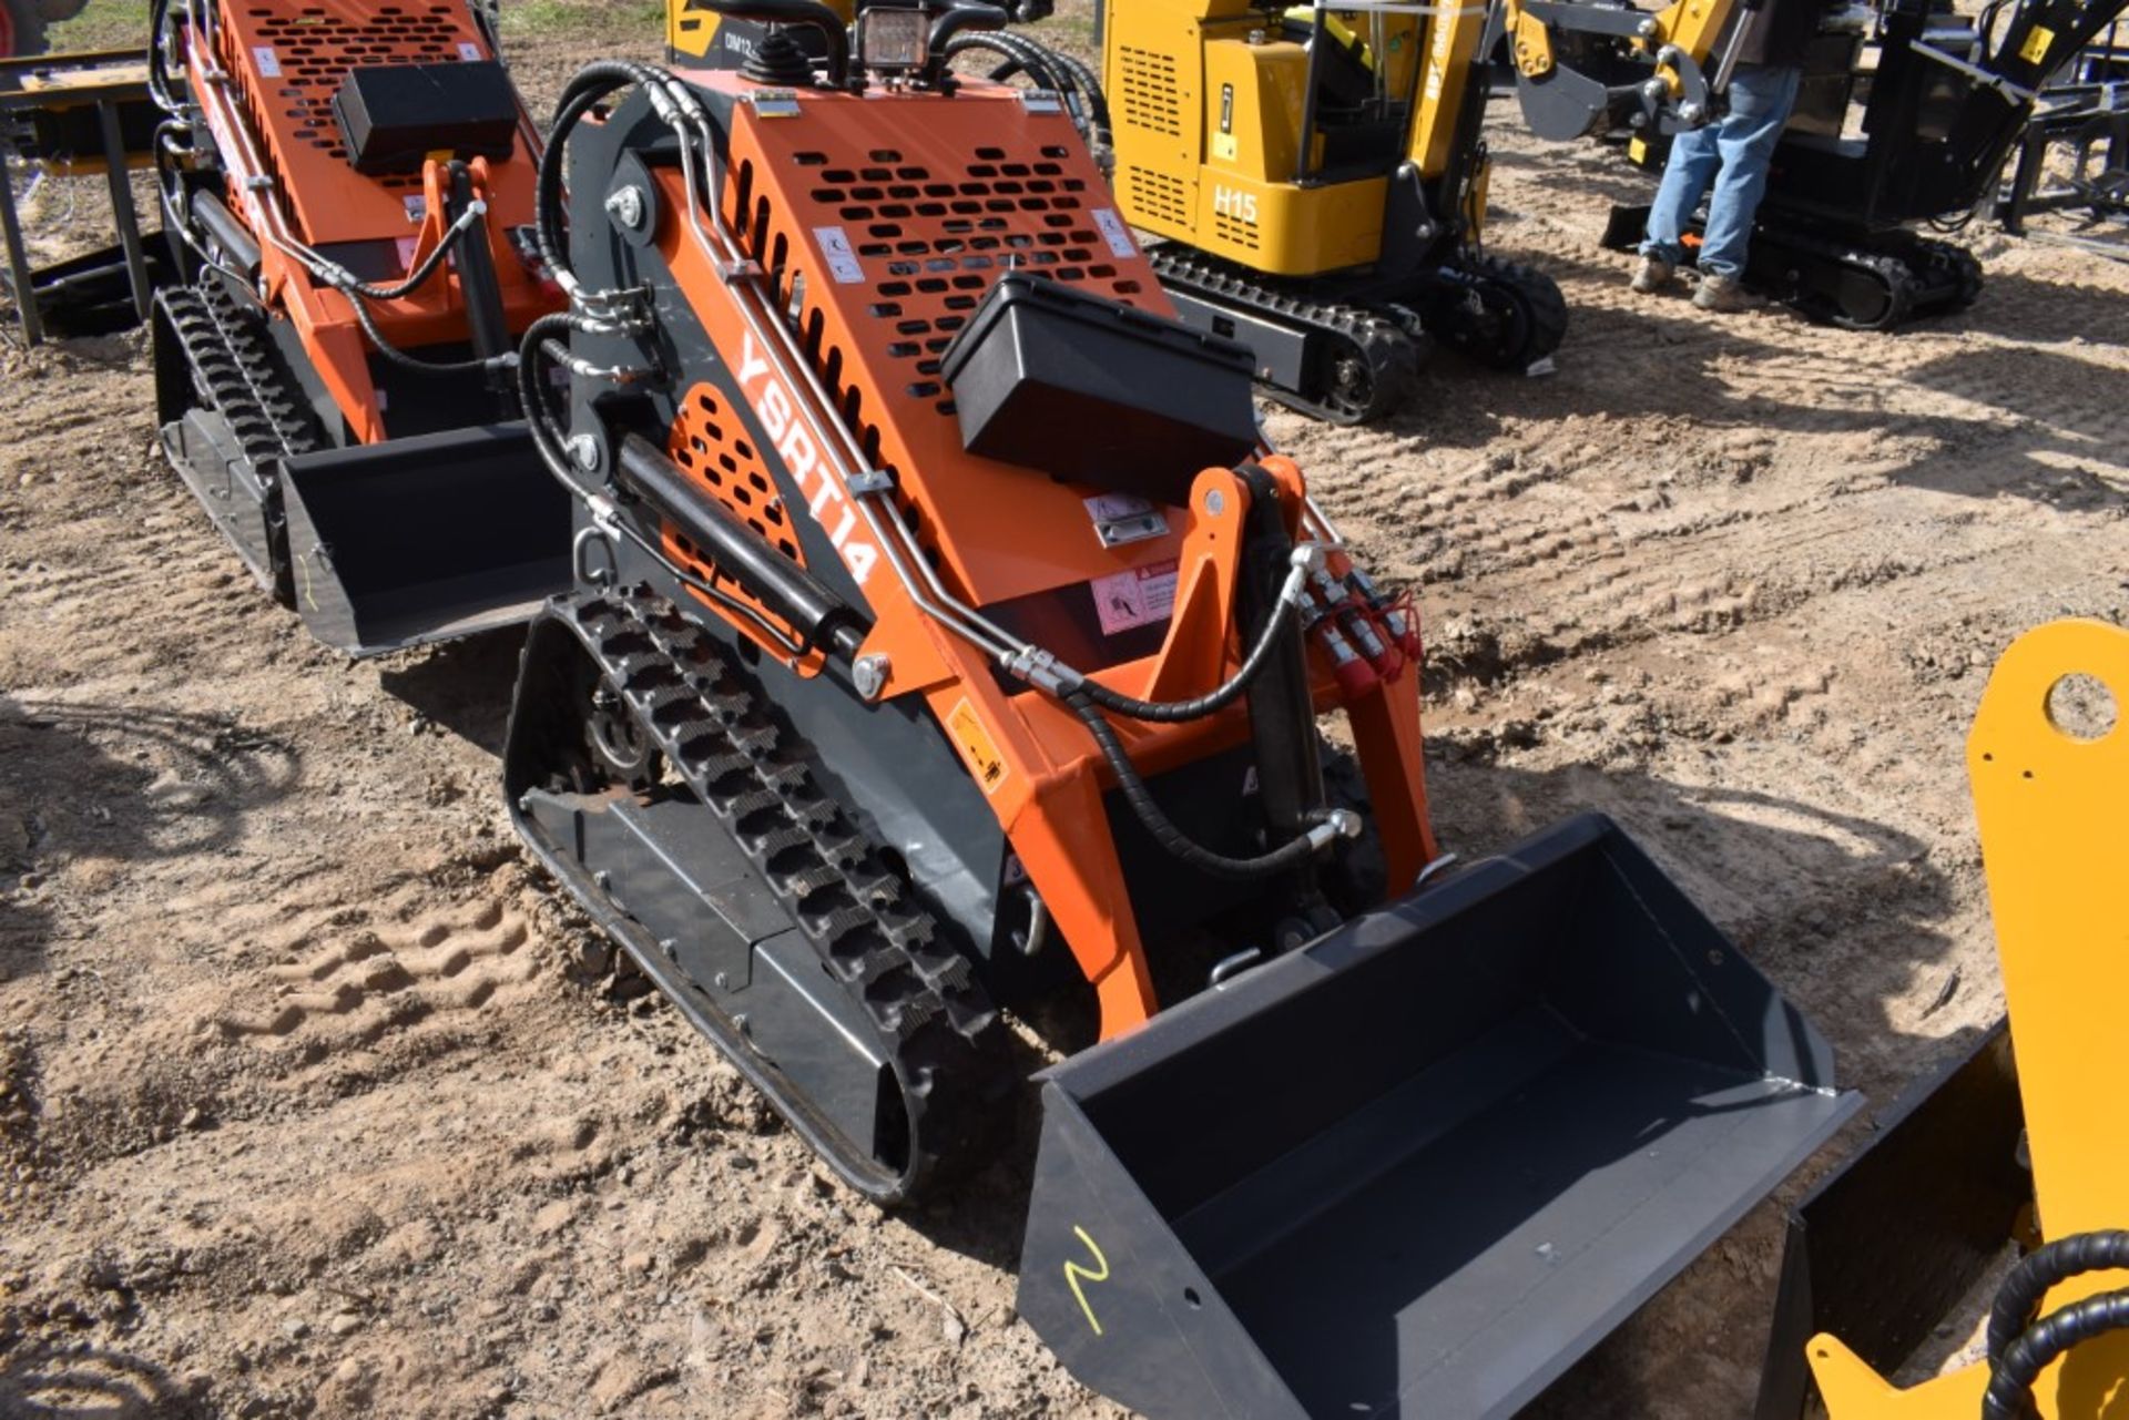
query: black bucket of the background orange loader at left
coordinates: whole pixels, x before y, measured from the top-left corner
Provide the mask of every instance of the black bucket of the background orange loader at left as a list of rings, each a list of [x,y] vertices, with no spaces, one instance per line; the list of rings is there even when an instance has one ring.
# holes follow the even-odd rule
[[[571,585],[571,500],[522,424],[394,439],[283,464],[296,611],[381,656],[528,622]]]

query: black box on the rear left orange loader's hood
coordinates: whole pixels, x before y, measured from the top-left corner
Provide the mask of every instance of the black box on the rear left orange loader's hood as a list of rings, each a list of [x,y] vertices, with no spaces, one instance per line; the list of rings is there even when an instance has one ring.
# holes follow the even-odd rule
[[[362,64],[332,96],[356,172],[419,172],[430,153],[509,158],[517,94],[496,60]]]

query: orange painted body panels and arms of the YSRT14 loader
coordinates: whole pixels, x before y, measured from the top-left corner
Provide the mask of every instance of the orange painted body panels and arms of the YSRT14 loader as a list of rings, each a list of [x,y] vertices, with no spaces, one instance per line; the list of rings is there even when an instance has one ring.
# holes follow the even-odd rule
[[[735,98],[760,94],[737,75],[698,81]],[[1094,673],[1122,694],[1165,700],[1203,694],[1237,668],[1235,588],[1250,494],[1233,470],[1207,468],[1188,507],[1162,513],[1167,532],[1111,549],[1094,536],[1086,507],[1101,488],[1054,481],[962,447],[950,394],[939,385],[939,351],[1007,268],[1007,255],[1135,309],[1173,315],[1135,241],[1105,207],[1101,175],[1062,113],[1030,109],[1018,89],[973,83],[952,100],[801,94],[792,106],[792,117],[762,117],[758,102],[735,106],[720,194],[726,224],[745,228],[764,279],[724,279],[679,219],[660,228],[658,251],[711,343],[739,353],[745,398],[805,507],[830,541],[839,539],[843,566],[873,615],[860,656],[888,666],[881,698],[922,698],[962,752],[1099,992],[1101,1033],[1120,1035],[1160,1003],[1103,811],[1113,775],[1071,711],[1050,696],[1011,694],[981,647],[920,605],[894,575],[884,543],[924,530],[901,556],[935,560],[947,592],[975,609],[1075,592],[1092,598],[1103,579],[1173,566],[1173,613],[1160,647]],[[911,119],[896,111],[911,111]],[[892,134],[892,160],[881,158],[890,143],[884,134]],[[683,213],[683,175],[666,170],[656,181],[660,209]],[[977,196],[977,187],[988,192]],[[837,273],[843,247],[826,232],[852,241],[860,279]],[[892,275],[901,266],[909,273]],[[858,511],[854,470],[830,456],[839,441],[832,415],[756,334],[760,317],[749,307],[766,298],[788,309],[794,292],[805,300],[805,347],[818,351],[820,368],[835,370],[837,404],[858,411],[864,449],[875,449],[877,468],[894,481],[894,515],[877,526]],[[1328,539],[1307,509],[1301,470],[1275,456],[1265,464],[1290,532]],[[705,492],[717,494],[707,483]],[[1350,715],[1382,826],[1388,886],[1401,892],[1435,856],[1418,675],[1382,679],[1348,703],[1318,654],[1314,696],[1318,711]],[[1124,724],[1120,732],[1133,762],[1152,775],[1243,743],[1248,715],[1235,705],[1209,720]]]

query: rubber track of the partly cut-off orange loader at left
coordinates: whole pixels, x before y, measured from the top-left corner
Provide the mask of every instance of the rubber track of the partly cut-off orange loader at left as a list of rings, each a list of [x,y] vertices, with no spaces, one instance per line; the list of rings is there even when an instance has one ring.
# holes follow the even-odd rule
[[[294,607],[281,464],[321,447],[302,396],[258,319],[213,281],[158,292],[155,339],[177,347],[158,368],[170,373],[168,381],[189,383],[162,390],[170,466],[258,583]],[[181,413],[187,404],[189,413]]]

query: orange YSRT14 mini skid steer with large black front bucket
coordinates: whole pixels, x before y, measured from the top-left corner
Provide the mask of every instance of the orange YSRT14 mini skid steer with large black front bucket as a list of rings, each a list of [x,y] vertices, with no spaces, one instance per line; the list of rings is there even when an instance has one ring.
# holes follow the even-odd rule
[[[1446,871],[1409,605],[1064,104],[945,68],[1003,11],[711,9],[743,68],[594,64],[543,162],[517,830],[879,1203],[988,1158],[1007,1011],[1077,1050],[1020,1309],[1088,1384],[1512,1414],[1846,1118],[1827,1045],[1601,818]]]

